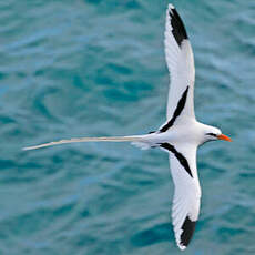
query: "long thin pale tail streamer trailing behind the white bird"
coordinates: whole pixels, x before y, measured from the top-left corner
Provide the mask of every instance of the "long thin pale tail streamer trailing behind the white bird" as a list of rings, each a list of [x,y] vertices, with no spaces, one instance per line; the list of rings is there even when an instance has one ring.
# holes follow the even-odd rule
[[[59,145],[63,143],[83,143],[83,142],[140,142],[144,135],[133,135],[133,136],[113,136],[113,137],[81,137],[81,139],[70,139],[61,140],[58,142],[43,143],[34,146],[23,147],[23,151],[35,150],[41,147],[49,147],[53,145]]]

